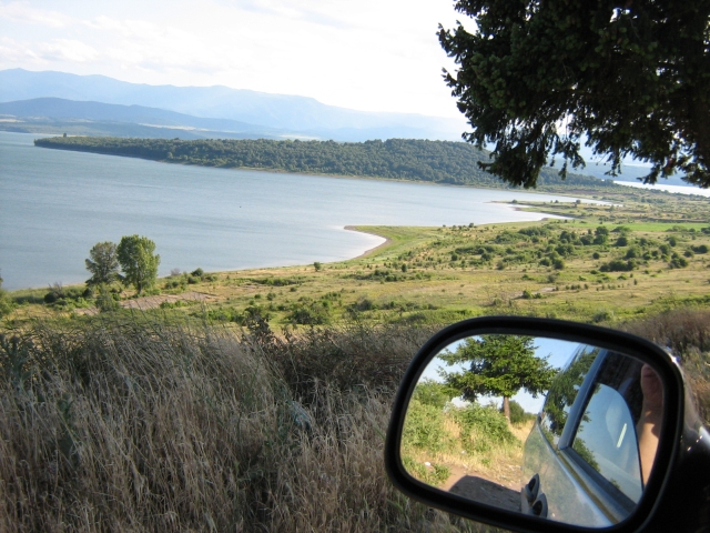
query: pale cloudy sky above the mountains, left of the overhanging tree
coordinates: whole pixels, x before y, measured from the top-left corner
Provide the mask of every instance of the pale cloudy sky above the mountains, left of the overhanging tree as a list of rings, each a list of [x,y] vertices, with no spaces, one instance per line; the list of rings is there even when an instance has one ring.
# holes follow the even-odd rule
[[[0,0],[0,69],[462,118],[436,36],[457,19],[453,0]]]

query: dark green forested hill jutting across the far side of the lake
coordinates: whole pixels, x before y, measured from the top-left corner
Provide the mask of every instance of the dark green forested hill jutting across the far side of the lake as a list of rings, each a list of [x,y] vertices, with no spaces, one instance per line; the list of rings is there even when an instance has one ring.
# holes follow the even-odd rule
[[[34,144],[205,167],[503,187],[495,175],[478,168],[478,161],[489,161],[488,152],[465,142],[390,139],[341,143],[55,137],[37,139]],[[538,180],[539,184],[559,182],[556,169],[545,169]],[[578,174],[568,175],[567,182],[611,185],[611,181]]]

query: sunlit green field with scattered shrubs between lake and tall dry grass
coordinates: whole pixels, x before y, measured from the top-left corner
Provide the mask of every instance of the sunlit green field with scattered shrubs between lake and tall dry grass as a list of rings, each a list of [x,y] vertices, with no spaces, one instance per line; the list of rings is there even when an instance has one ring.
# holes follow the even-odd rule
[[[540,203],[521,209],[567,220],[453,228],[359,227],[389,240],[367,257],[327,264],[159,280],[149,296],[115,286],[121,305],[212,323],[272,328],[373,322],[444,323],[481,314],[613,323],[710,301],[707,199],[636,193],[607,205]],[[51,292],[51,291],[49,291]],[[95,312],[83,288],[17,291],[6,319]]]

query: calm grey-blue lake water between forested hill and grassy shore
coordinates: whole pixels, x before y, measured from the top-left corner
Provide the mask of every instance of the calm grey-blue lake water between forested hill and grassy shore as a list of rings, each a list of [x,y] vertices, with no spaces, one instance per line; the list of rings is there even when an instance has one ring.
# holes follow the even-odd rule
[[[0,132],[4,289],[83,282],[100,241],[156,243],[160,275],[354,258],[384,240],[345,225],[539,220],[494,201],[566,197],[462,187],[210,169],[36,148]]]

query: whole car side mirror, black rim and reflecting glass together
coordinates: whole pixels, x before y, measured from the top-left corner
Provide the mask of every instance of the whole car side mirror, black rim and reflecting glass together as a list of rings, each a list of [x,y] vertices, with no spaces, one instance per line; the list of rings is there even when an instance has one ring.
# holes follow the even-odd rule
[[[619,331],[483,318],[408,368],[385,444],[393,483],[444,511],[519,531],[637,531],[682,431],[683,381]]]

